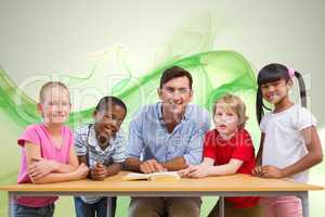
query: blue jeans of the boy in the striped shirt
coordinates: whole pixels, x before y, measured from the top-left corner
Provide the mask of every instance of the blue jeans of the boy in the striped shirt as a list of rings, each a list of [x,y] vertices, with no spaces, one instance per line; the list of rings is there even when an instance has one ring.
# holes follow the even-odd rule
[[[116,197],[112,197],[110,216],[115,217]],[[79,196],[75,196],[75,208],[77,217],[107,217],[107,197],[102,197],[94,204],[84,203]]]

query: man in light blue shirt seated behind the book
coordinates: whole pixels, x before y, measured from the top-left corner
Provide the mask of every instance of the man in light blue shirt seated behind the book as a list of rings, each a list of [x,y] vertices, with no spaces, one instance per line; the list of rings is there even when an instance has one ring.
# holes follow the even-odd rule
[[[164,72],[157,89],[160,102],[139,110],[129,126],[125,167],[151,174],[197,165],[209,130],[209,113],[188,104],[193,98],[191,74],[173,66]],[[200,197],[131,197],[130,217],[197,217]]]

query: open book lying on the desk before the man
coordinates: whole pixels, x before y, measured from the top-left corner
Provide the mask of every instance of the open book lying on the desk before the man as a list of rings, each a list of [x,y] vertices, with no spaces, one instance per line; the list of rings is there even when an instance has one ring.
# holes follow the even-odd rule
[[[130,180],[173,181],[180,179],[181,177],[177,171],[160,171],[160,173],[153,173],[153,174],[130,173],[123,177],[125,181],[130,181]]]

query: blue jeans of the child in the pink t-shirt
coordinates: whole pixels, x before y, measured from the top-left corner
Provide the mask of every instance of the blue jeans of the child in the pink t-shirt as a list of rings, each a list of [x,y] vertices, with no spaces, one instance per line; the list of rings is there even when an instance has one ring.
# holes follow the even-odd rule
[[[29,207],[14,203],[14,217],[53,217],[54,204],[41,207]]]

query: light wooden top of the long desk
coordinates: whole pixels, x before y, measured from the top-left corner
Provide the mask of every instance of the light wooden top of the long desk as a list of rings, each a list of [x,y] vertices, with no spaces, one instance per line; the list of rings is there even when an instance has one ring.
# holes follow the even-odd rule
[[[0,191],[9,192],[294,192],[323,190],[323,187],[278,179],[262,179],[247,175],[181,179],[179,181],[122,181],[128,171],[108,177],[104,181],[80,180],[48,184],[9,184]]]

